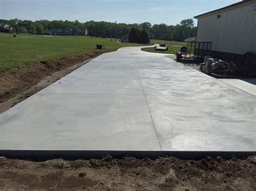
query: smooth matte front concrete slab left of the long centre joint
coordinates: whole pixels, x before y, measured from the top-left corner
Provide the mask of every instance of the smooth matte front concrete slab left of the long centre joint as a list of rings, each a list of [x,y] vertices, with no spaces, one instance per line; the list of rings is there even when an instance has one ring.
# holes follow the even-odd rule
[[[160,150],[144,96],[37,94],[0,126],[1,150]]]

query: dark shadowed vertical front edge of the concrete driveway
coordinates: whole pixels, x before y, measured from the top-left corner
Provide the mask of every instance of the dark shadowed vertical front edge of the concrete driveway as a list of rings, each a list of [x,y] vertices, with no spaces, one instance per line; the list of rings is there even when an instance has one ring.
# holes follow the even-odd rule
[[[53,151],[53,150],[0,150],[0,156],[15,159],[91,159],[103,158],[110,154],[113,158],[122,158],[125,156],[136,158],[151,158],[171,156],[180,159],[200,160],[205,157],[222,157],[224,159],[245,158],[255,155],[256,151]]]

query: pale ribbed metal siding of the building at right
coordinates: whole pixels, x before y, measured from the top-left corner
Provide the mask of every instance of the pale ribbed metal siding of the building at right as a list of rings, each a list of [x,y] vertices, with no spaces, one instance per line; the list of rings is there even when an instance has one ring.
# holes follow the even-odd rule
[[[256,53],[256,11],[250,2],[198,18],[197,41],[211,41],[212,50]],[[217,19],[216,16],[220,15]]]

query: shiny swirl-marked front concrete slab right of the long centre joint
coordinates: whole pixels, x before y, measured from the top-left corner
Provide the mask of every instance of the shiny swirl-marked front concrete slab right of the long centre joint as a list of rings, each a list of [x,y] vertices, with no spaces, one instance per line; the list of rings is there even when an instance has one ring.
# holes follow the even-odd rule
[[[255,98],[146,96],[164,151],[255,151]]]

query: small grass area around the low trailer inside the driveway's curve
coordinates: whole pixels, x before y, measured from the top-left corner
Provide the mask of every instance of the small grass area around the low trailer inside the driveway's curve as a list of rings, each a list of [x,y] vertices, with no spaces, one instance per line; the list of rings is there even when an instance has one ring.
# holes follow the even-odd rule
[[[157,39],[151,39],[150,43],[153,43],[153,44],[164,44],[164,43],[169,44],[168,51],[155,51],[154,47],[142,48],[142,50],[146,51],[146,52],[153,52],[153,53],[174,54],[174,51],[179,51],[182,46],[187,46],[187,43],[184,43],[184,42],[166,41],[166,40],[157,40]]]

